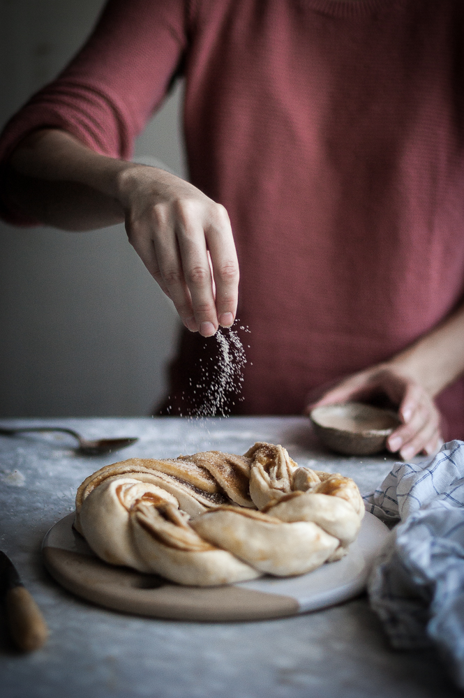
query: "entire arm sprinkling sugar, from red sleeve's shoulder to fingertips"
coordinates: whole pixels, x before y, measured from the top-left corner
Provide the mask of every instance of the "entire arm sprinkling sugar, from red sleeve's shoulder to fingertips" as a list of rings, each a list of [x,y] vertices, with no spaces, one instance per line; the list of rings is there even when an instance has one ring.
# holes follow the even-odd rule
[[[194,24],[186,0],[109,0],[75,59],[6,126],[0,209],[13,223],[66,230],[125,221],[184,325],[209,336],[237,308],[227,213],[179,177],[128,162]]]

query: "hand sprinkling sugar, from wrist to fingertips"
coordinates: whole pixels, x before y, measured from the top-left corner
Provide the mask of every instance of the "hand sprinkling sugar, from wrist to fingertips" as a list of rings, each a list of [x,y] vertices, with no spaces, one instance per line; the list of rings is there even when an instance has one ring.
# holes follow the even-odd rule
[[[205,337],[230,327],[239,264],[225,208],[174,174],[132,165],[119,174],[126,230],[184,325]]]

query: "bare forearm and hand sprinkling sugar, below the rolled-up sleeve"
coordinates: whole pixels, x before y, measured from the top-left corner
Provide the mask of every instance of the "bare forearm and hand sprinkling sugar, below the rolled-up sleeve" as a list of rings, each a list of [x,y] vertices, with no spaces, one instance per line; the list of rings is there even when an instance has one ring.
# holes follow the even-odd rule
[[[6,205],[64,230],[126,224],[130,244],[192,332],[237,310],[239,267],[225,208],[174,174],[100,155],[59,129],[31,133],[8,159]],[[216,287],[216,288],[215,288]]]

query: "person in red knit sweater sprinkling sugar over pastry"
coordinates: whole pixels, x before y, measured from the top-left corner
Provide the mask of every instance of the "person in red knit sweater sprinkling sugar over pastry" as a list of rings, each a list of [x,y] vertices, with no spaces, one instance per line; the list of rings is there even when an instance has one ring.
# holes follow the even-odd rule
[[[3,217],[125,221],[186,327],[173,413],[237,314],[241,413],[382,392],[390,450],[433,452],[464,437],[463,34],[457,0],[110,0],[3,132]],[[180,74],[190,183],[129,160]]]

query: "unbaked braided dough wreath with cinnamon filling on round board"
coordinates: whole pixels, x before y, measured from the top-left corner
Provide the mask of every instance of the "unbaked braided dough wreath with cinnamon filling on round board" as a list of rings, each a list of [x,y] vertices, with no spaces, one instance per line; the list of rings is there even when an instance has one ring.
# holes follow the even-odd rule
[[[356,484],[280,445],[128,459],[77,490],[75,528],[107,563],[179,584],[303,574],[342,557],[364,515]]]

